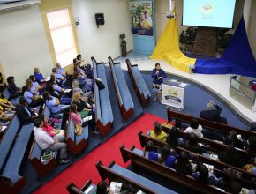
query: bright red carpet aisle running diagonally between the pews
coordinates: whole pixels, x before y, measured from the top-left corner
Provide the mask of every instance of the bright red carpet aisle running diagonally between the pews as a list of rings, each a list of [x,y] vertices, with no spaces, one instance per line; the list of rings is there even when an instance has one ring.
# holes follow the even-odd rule
[[[65,187],[68,183],[73,182],[81,187],[88,179],[91,179],[93,183],[98,183],[101,180],[95,168],[98,160],[102,160],[105,165],[109,165],[112,160],[115,160],[118,165],[127,167],[128,163],[124,164],[119,147],[122,144],[126,147],[133,145],[140,147],[138,132],[140,130],[146,132],[152,129],[155,121],[163,123],[165,120],[149,113],[141,116],[137,121],[126,127],[124,131],[117,133],[116,136],[98,146],[93,152],[74,163],[70,168],[65,169],[60,175],[41,186],[34,193],[67,193]]]

